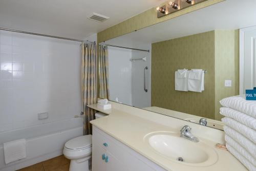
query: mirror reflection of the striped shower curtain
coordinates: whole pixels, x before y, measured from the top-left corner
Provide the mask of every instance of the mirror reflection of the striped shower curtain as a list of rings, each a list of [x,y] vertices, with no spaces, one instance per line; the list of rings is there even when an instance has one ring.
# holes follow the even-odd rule
[[[108,47],[99,45],[99,97],[109,99]]]

